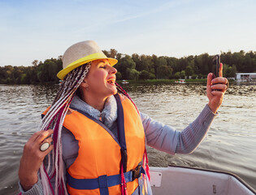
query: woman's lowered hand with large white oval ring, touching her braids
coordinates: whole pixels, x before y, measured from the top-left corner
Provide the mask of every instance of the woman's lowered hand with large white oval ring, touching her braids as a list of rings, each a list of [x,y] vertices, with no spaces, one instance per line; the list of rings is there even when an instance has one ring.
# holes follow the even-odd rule
[[[35,132],[24,145],[23,155],[20,159],[19,179],[24,191],[31,189],[37,183],[37,172],[47,154],[53,150],[54,145],[46,151],[41,151],[40,146],[44,142],[51,143],[53,130]]]

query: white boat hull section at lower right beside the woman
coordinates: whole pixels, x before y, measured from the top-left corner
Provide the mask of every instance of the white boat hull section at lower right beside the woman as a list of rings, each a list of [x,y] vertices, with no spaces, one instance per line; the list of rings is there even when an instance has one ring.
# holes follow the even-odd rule
[[[256,191],[232,173],[191,167],[150,167],[153,194],[253,195]]]

